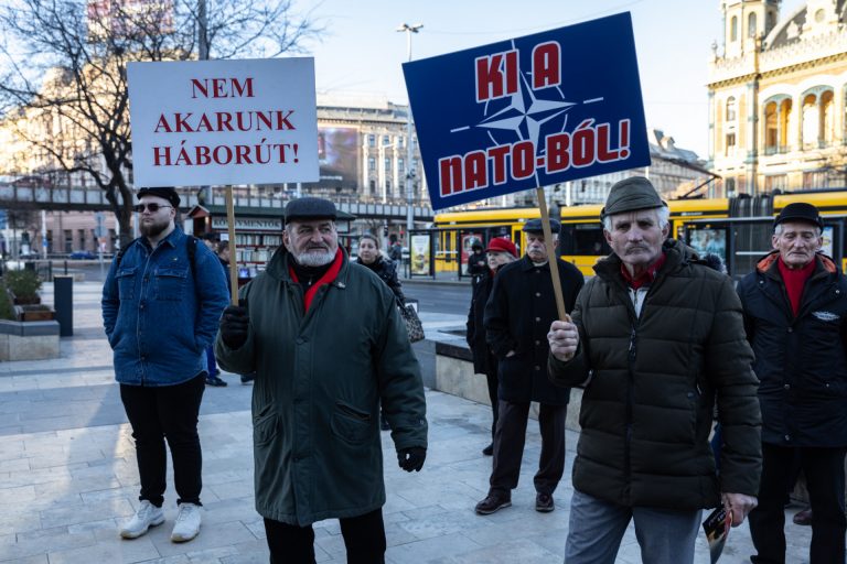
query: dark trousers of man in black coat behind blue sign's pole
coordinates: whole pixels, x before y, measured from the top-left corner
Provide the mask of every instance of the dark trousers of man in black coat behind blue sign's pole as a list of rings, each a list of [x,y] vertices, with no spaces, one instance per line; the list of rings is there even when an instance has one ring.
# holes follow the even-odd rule
[[[567,405],[540,404],[538,426],[542,430],[542,457],[534,479],[535,490],[538,494],[553,495],[565,473],[567,414]],[[494,434],[494,460],[490,480],[492,490],[510,491],[517,487],[528,417],[529,403],[500,400],[500,417]]]

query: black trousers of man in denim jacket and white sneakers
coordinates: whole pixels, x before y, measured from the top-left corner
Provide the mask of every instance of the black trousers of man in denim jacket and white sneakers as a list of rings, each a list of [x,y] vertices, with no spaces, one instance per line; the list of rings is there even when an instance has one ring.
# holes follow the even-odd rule
[[[132,438],[136,440],[141,478],[138,499],[162,507],[168,473],[167,438],[171,448],[174,488],[179,496],[176,502],[200,505],[203,455],[197,435],[197,415],[205,389],[205,372],[176,386],[120,384],[120,399],[132,425]]]

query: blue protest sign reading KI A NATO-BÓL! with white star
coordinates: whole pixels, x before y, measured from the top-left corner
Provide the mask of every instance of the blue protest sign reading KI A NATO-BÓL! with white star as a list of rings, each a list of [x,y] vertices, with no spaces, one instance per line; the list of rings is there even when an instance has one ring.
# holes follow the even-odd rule
[[[629,13],[403,70],[433,209],[650,164]]]

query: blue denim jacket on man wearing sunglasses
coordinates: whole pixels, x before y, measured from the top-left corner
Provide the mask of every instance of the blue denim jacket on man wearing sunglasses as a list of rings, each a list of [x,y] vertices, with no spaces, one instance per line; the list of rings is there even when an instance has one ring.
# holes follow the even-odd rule
[[[173,386],[206,370],[228,293],[217,257],[196,241],[192,273],[189,243],[178,227],[156,249],[142,237],[111,263],[103,322],[120,383]]]

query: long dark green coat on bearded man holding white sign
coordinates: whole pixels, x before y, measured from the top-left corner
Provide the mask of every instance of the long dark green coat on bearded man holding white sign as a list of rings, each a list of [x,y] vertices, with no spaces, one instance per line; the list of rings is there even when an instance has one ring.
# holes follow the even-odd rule
[[[280,247],[240,290],[247,341],[215,352],[226,370],[256,371],[253,442],[256,510],[308,525],[385,503],[379,402],[399,451],[427,446],[420,367],[394,294],[343,250],[334,281],[304,313],[303,292]]]

